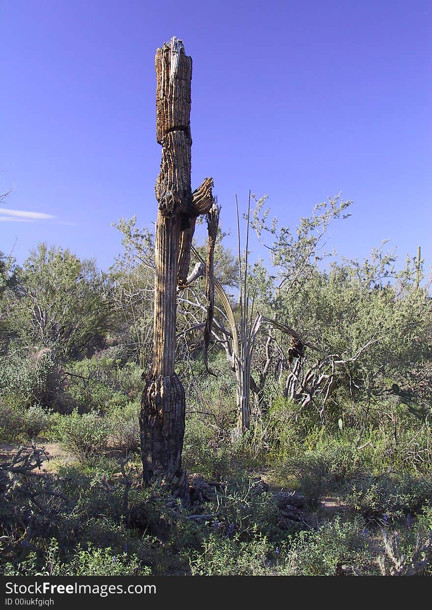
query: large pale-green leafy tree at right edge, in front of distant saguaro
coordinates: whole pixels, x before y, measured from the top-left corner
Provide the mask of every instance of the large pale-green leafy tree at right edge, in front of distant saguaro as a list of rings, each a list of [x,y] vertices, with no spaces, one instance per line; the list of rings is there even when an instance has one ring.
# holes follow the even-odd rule
[[[284,288],[278,293],[279,319],[292,321],[303,342],[314,346],[307,351],[305,370],[312,358],[327,359],[322,368],[327,374],[331,362],[337,363],[334,401],[323,409],[326,421],[337,421],[333,404],[341,401],[368,400],[379,408],[392,387],[408,388],[411,401],[428,406],[424,366],[431,357],[432,303],[424,290],[414,288],[414,276],[410,284],[401,279],[394,261],[379,249],[362,264],[343,260],[326,271],[311,270],[295,299]]]

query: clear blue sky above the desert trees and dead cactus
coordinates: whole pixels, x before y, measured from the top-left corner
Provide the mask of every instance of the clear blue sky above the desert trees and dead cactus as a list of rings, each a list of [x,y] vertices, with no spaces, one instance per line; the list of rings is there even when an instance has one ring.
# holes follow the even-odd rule
[[[156,219],[154,54],[176,35],[193,59],[192,187],[213,176],[225,230],[235,193],[244,208],[267,193],[295,226],[342,192],[352,217],[329,246],[422,245],[430,266],[431,23],[426,0],[2,0],[0,250],[22,262],[47,241],[107,268],[111,222]]]

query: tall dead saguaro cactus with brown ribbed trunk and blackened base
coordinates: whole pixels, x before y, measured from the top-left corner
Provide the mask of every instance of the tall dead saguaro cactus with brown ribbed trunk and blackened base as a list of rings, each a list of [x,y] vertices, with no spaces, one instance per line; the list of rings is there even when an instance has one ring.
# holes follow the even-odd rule
[[[156,139],[162,162],[156,180],[158,203],[154,282],[153,370],[146,379],[140,417],[143,477],[187,498],[182,470],[184,389],[175,374],[176,292],[185,285],[198,215],[214,202],[212,178],[190,186],[190,84],[192,59],[178,38],[156,52]]]

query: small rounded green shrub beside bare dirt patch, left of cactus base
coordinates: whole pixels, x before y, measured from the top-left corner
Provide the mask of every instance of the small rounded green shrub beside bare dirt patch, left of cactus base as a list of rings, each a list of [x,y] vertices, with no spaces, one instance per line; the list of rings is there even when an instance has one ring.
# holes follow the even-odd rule
[[[95,412],[79,415],[75,409],[57,423],[63,447],[83,464],[95,462],[107,449],[110,423]]]

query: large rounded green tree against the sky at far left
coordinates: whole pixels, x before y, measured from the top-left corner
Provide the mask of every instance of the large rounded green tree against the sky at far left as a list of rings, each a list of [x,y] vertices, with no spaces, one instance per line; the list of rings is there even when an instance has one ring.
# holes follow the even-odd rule
[[[107,329],[109,285],[92,260],[40,243],[18,273],[8,324],[24,345],[49,348],[56,359],[81,356]]]

